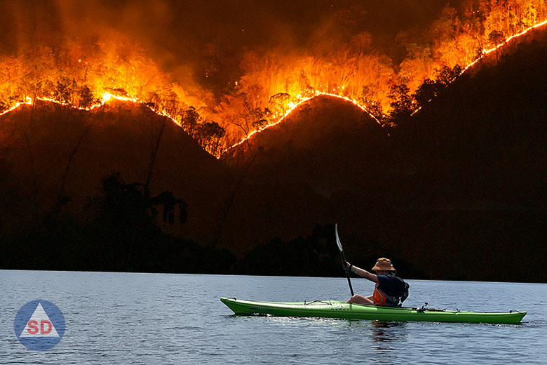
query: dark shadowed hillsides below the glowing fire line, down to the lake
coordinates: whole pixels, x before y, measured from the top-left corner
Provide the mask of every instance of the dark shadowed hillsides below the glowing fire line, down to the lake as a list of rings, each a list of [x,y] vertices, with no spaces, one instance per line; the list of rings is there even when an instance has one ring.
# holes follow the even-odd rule
[[[0,239],[39,225],[36,217],[55,208],[85,220],[88,197],[102,194],[101,179],[119,171],[127,183],[150,176],[153,194],[168,190],[187,202],[187,223],[161,227],[209,244],[213,253],[252,253],[242,261],[246,267],[257,265],[252,257],[273,257],[271,250],[283,248],[280,240],[309,243],[299,237],[316,224],[323,226],[313,231],[319,247],[330,247],[334,242],[325,237],[336,222],[356,265],[384,255],[401,264],[403,276],[546,281],[543,272],[508,270],[541,267],[547,259],[546,55],[541,36],[512,53],[492,54],[498,62],[485,60],[464,74],[391,135],[351,102],[319,96],[224,161],[138,104],[115,101],[92,112],[48,102],[20,107],[0,117]],[[138,225],[128,227],[118,241],[133,237]],[[41,244],[42,231],[36,232]],[[48,232],[60,242],[65,233]],[[79,233],[71,233],[76,242]],[[157,256],[148,267],[171,260],[170,268],[184,271],[177,260],[190,248],[168,241],[164,248],[173,251],[156,251],[159,236],[148,234],[137,237],[142,252]],[[252,251],[257,246],[262,251]],[[292,248],[296,257],[299,247]],[[118,249],[126,252],[123,244]],[[314,250],[309,265],[327,255],[335,272],[332,255]],[[215,260],[227,262],[223,270],[230,272],[236,259],[224,254]],[[184,255],[199,272],[203,252]],[[484,263],[480,273],[471,270]],[[135,265],[131,270],[142,267]],[[283,267],[271,265],[277,266],[266,272]]]

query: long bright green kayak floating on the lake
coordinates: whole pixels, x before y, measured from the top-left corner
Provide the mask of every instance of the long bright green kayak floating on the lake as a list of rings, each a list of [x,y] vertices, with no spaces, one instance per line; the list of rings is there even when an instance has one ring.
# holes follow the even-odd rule
[[[526,312],[464,312],[432,308],[377,307],[348,304],[336,300],[309,303],[253,302],[236,298],[220,298],[235,314],[262,314],[281,317],[326,317],[344,319],[376,319],[380,321],[431,321],[490,324],[519,324]]]

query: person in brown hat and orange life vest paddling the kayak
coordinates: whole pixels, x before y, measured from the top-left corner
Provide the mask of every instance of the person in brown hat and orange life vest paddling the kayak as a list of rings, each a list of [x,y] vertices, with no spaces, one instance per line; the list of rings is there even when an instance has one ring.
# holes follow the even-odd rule
[[[409,285],[400,277],[396,276],[397,271],[391,265],[389,258],[379,258],[372,270],[376,274],[367,272],[360,267],[344,263],[344,269],[358,274],[370,281],[376,283],[372,296],[361,296],[356,294],[349,298],[346,303],[383,305],[386,307],[400,307],[408,296]]]

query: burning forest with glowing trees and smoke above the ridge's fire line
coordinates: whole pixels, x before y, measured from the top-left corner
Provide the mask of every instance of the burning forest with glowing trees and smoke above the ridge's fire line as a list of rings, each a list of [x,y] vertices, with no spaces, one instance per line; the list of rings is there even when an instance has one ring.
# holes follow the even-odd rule
[[[365,9],[345,4],[304,42],[227,51],[218,36],[203,39],[198,60],[176,72],[130,32],[65,34],[36,20],[25,29],[29,41],[1,55],[0,113],[37,100],[84,110],[130,100],[220,157],[316,95],[346,98],[396,126],[487,53],[546,20],[545,0],[457,1],[425,27],[400,29],[390,49],[367,28]]]

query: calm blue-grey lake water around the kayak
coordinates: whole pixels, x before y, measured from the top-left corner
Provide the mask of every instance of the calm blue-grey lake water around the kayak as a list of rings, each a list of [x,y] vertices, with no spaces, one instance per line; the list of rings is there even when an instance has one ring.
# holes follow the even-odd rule
[[[369,281],[352,282],[372,293]],[[520,325],[236,317],[221,296],[344,299],[347,280],[0,270],[0,364],[547,364],[547,284],[409,283],[407,306],[528,314]],[[13,329],[35,299],[66,321],[45,352]]]

